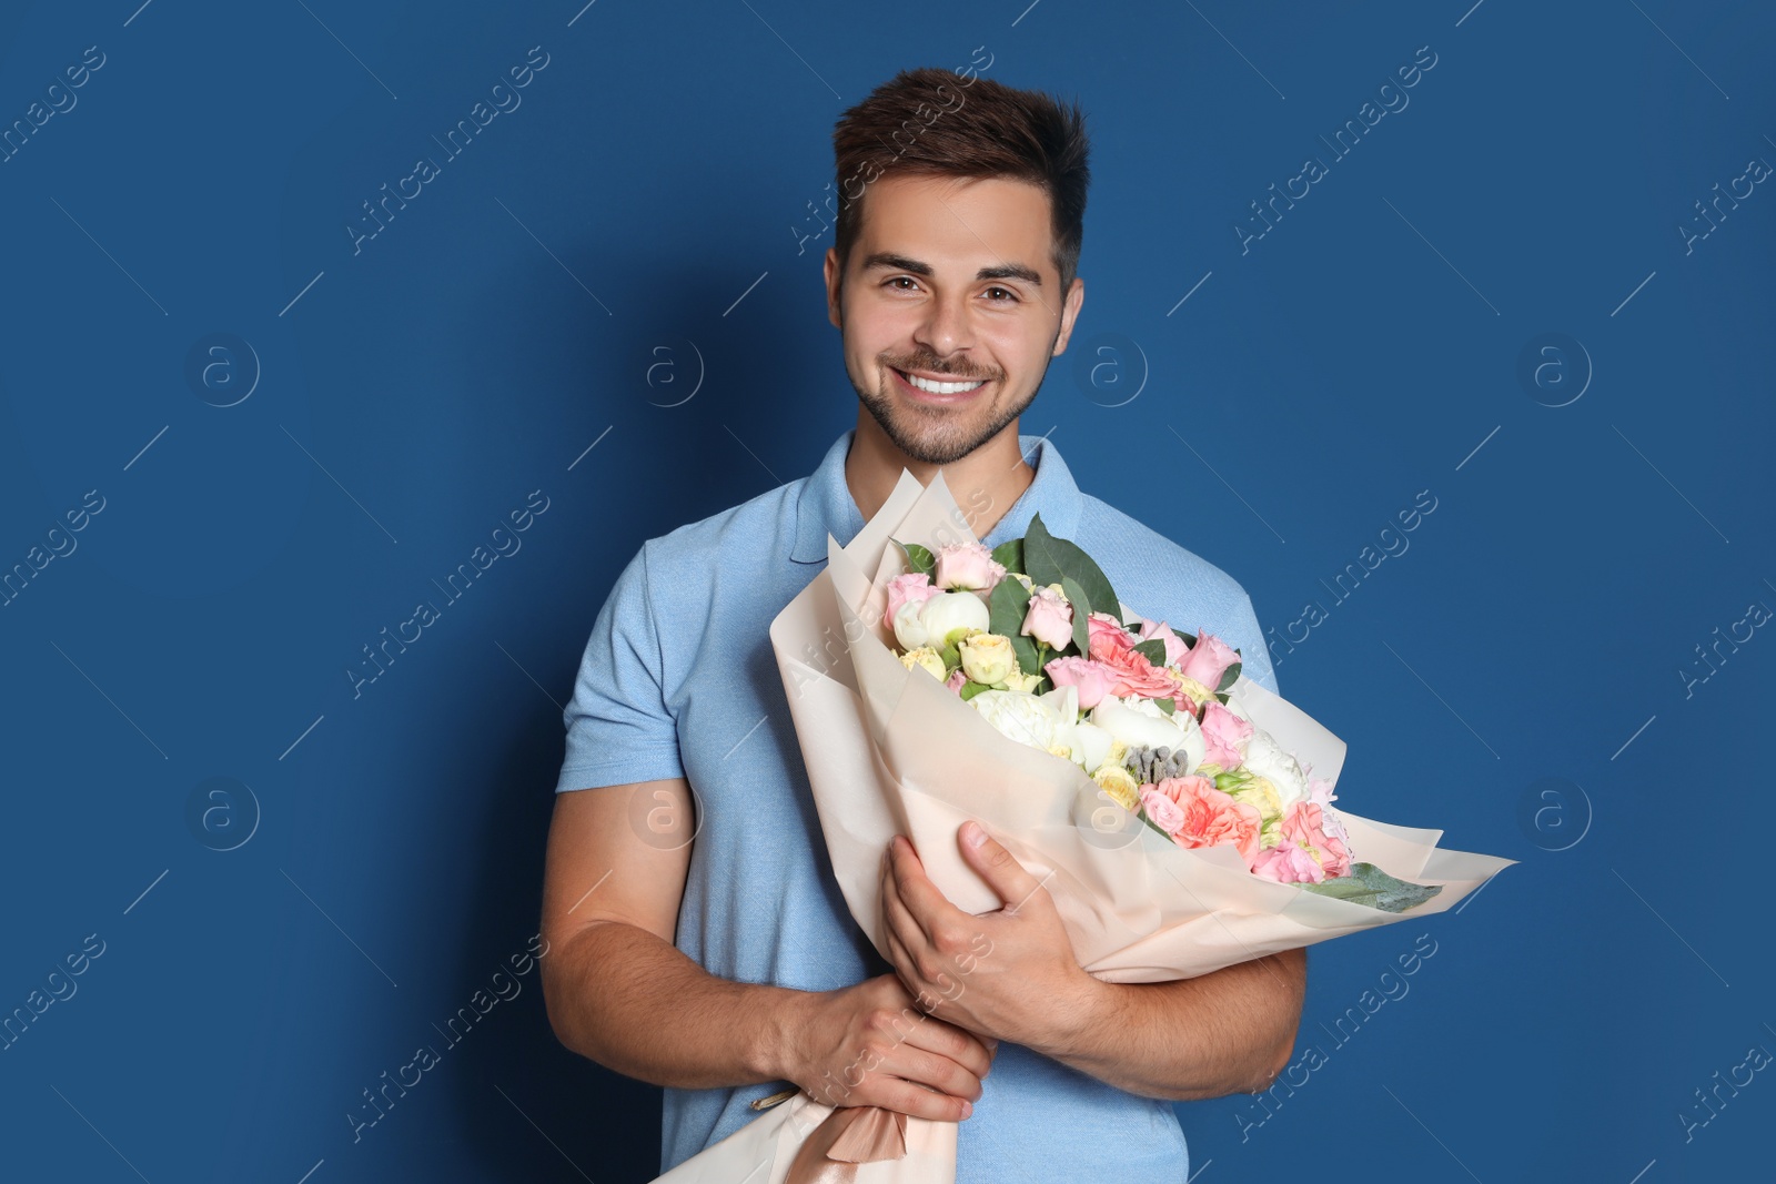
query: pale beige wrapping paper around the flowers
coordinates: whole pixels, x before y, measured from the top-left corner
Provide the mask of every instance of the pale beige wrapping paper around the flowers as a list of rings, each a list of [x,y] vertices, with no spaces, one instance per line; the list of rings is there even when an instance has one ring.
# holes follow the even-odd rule
[[[1339,809],[1353,859],[1442,886],[1408,912],[1382,912],[1265,880],[1227,847],[1186,850],[1167,841],[1114,806],[1078,765],[1000,735],[929,673],[900,664],[883,625],[886,582],[904,570],[890,540],[931,550],[977,541],[941,474],[920,486],[902,470],[888,502],[847,547],[828,538],[826,570],[771,623],[833,873],[851,916],[884,957],[877,877],[895,834],[913,840],[927,875],[957,907],[989,912],[1003,904],[963,863],[955,833],[968,818],[1044,879],[1080,966],[1106,982],[1193,978],[1442,912],[1515,863],[1440,850],[1442,831]],[[1090,552],[1092,540],[1074,541]],[[1131,607],[1138,611],[1122,605],[1124,621],[1133,620]],[[1249,678],[1229,694],[1316,777],[1336,781],[1343,740]],[[781,1184],[796,1147],[829,1113],[797,1095],[661,1179]],[[904,1159],[861,1164],[854,1179],[954,1180],[952,1124],[911,1118],[906,1143]],[[934,1163],[945,1148],[950,1161]],[[771,1175],[748,1175],[762,1172],[767,1156]],[[693,1164],[702,1166],[680,1175]]]

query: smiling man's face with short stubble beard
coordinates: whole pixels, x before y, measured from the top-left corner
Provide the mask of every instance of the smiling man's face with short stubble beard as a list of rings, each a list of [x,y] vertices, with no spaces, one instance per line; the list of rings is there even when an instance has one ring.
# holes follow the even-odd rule
[[[1076,277],[1058,291],[1051,254],[1048,193],[1034,185],[870,185],[842,284],[838,254],[826,252],[828,316],[844,332],[851,385],[895,447],[948,465],[1035,399],[1085,298]]]

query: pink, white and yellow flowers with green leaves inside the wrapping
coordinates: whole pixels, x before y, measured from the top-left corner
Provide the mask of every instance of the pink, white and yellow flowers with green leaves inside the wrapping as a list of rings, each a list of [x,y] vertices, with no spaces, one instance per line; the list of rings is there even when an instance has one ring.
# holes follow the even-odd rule
[[[932,675],[1000,735],[1080,765],[1098,797],[1128,811],[1094,811],[1096,829],[1128,834],[1138,818],[1185,849],[1234,847],[1254,875],[1389,912],[1442,891],[1353,864],[1332,783],[1311,777],[1233,698],[1240,651],[1131,614],[1043,515],[993,550],[895,545],[909,570],[888,580],[883,625],[900,664]],[[1108,604],[1115,616],[1094,609]]]

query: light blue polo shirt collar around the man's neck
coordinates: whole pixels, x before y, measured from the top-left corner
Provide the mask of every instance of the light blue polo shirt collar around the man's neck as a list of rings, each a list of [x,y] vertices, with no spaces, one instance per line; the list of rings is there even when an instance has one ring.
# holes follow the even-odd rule
[[[803,481],[796,497],[796,545],[789,552],[796,563],[826,563],[828,534],[844,547],[863,529],[863,513],[851,499],[851,486],[845,485],[845,456],[851,453],[854,435],[856,428],[840,435],[826,449],[819,469]],[[1073,472],[1060,460],[1060,451],[1053,440],[1039,435],[1019,435],[1018,447],[1035,467],[1035,479],[980,541],[998,547],[1005,540],[1023,538],[1030,518],[1037,513],[1043,515],[1043,525],[1050,534],[1074,538],[1083,495],[1073,481]]]

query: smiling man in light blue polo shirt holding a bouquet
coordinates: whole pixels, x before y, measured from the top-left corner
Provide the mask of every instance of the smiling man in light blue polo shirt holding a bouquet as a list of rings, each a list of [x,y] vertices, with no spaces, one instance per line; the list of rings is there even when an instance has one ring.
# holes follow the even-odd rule
[[[570,1049],[666,1086],[662,1168],[787,1083],[961,1122],[959,1180],[1185,1180],[1167,1099],[1270,1085],[1300,1021],[1302,951],[1101,983],[1048,893],[963,827],[1007,907],[954,909],[897,840],[884,964],[828,866],[767,627],[821,570],[826,536],[849,541],[902,467],[925,483],[941,469],[987,545],[1041,511],[1130,605],[1229,639],[1273,689],[1257,620],[1233,579],[1082,493],[1053,442],[1018,435],[1085,298],[1078,108],[911,71],[845,112],[833,142],[838,176],[863,179],[826,256],[858,424],[813,476],[648,540],[599,614],[549,834],[551,1022]],[[1179,465],[1162,469],[1176,497]],[[932,985],[982,935],[993,953],[966,989]],[[916,998],[941,1005],[913,1024]]]

